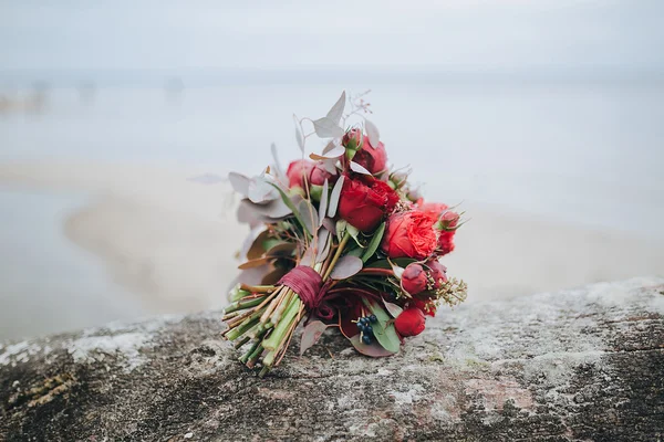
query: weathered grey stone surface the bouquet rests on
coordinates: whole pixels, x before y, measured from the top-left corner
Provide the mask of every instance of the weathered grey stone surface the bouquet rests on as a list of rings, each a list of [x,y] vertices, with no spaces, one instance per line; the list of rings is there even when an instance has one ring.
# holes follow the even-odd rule
[[[0,440],[664,436],[662,278],[467,305],[385,359],[329,330],[263,380],[219,316],[0,345]]]

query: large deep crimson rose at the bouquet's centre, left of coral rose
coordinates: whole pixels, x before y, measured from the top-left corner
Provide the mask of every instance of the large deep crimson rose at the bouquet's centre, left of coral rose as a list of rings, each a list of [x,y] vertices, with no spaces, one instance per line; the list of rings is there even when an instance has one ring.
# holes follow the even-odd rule
[[[397,202],[398,194],[387,183],[366,175],[353,178],[346,175],[339,199],[339,217],[354,228],[370,232]]]

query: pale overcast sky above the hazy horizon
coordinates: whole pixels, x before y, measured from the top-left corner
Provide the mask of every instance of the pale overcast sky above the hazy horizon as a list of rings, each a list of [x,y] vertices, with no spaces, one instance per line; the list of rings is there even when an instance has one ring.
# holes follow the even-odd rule
[[[0,70],[652,72],[663,19],[663,0],[0,0]]]

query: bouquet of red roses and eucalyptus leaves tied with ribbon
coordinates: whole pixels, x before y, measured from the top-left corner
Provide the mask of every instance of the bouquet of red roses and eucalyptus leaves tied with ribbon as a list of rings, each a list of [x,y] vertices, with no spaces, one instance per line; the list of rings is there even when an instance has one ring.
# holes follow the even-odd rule
[[[439,262],[454,250],[463,213],[425,202],[407,170],[388,167],[364,96],[351,97],[345,114],[344,92],[322,118],[293,116],[302,158],[286,172],[272,145],[274,165],[259,176],[229,175],[242,197],[238,219],[251,232],[224,336],[261,377],[279,365],[301,323],[301,354],[335,327],[359,352],[391,356],[440,304],[466,298],[466,284]],[[313,136],[326,145],[304,159]]]

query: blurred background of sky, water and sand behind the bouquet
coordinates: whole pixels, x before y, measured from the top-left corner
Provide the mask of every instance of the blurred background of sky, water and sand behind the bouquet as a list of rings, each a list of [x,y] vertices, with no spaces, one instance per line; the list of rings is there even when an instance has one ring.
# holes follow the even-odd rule
[[[0,339],[224,304],[225,183],[362,93],[469,302],[664,275],[661,1],[0,0]],[[317,148],[312,145],[312,148]]]

